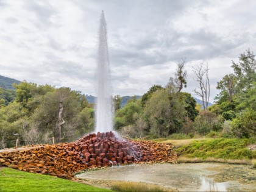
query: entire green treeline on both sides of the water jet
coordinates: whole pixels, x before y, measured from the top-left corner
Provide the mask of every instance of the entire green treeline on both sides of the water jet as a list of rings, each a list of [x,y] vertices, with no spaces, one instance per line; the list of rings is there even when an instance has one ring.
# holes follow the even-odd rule
[[[193,71],[199,89],[196,103],[187,87],[185,59],[177,62],[174,77],[166,86],[152,86],[138,99],[134,96],[123,107],[122,98],[113,98],[115,130],[130,138],[256,137],[256,62],[250,50],[232,61],[232,74],[216,85],[220,93],[209,107],[210,84],[207,63]],[[189,86],[189,85],[188,85]],[[67,87],[13,84],[13,90],[0,88],[0,148],[20,144],[74,141],[94,127],[93,104],[85,95]]]

